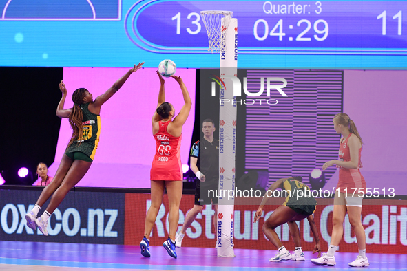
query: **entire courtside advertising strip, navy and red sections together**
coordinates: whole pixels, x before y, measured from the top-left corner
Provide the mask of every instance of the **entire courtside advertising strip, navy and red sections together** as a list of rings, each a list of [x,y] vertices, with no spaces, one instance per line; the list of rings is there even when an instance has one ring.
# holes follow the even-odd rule
[[[48,237],[42,236],[25,225],[25,213],[30,211],[40,191],[0,190],[0,240],[43,241],[61,243],[114,243],[138,246],[143,239],[145,214],[151,204],[151,195],[141,193],[68,193],[62,204],[50,217]],[[238,199],[239,202],[240,199]],[[403,254],[407,250],[407,204],[399,200],[386,200],[382,205],[371,205],[364,201],[362,224],[366,232],[367,253]],[[377,204],[382,203],[377,201]],[[48,204],[48,203],[47,203]],[[271,200],[264,206],[264,213],[253,223],[254,204],[235,205],[234,248],[276,250],[262,232],[265,220],[278,208],[279,203]],[[45,204],[46,205],[46,204]],[[184,223],[187,211],[194,206],[194,195],[182,195],[178,230]],[[43,210],[41,210],[43,211]],[[168,197],[164,196],[151,236],[151,246],[162,246],[168,237]],[[39,213],[41,215],[41,213]],[[215,249],[216,230],[213,225],[215,211],[206,205],[199,213],[182,241],[182,247],[207,247]],[[333,199],[318,199],[314,213],[320,246],[326,251],[331,241]],[[300,221],[300,237],[303,250],[313,250],[314,237],[308,221]],[[283,245],[294,249],[289,227],[284,224],[275,229]],[[339,252],[357,252],[355,233],[349,224],[348,215],[344,222],[344,236]],[[238,253],[236,253],[238,256]]]

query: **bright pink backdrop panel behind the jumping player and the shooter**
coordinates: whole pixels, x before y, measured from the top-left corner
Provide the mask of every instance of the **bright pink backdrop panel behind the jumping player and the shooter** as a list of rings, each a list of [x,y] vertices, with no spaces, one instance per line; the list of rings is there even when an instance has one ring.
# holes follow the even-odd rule
[[[128,68],[64,67],[63,81],[68,98],[65,109],[73,105],[71,96],[75,89],[85,87],[93,97],[103,94],[123,76]],[[189,118],[182,128],[181,162],[187,164],[195,116],[196,69],[177,69],[192,100]],[[138,70],[101,109],[101,135],[94,162],[85,177],[76,186],[149,188],[150,169],[156,142],[152,135],[152,116],[157,107],[160,81],[156,69]],[[165,100],[179,113],[184,100],[174,78],[165,78]],[[56,107],[56,105],[55,105]],[[50,174],[64,155],[72,131],[67,118],[61,121],[55,162]]]

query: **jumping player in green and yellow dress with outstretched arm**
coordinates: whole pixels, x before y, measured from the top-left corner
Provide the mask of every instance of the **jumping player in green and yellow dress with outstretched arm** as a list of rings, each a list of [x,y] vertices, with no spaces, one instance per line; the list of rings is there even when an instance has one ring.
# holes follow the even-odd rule
[[[144,62],[134,65],[132,69],[107,89],[107,91],[93,100],[92,94],[87,89],[76,89],[72,94],[74,107],[63,109],[67,97],[67,89],[63,81],[59,83],[62,98],[56,108],[56,116],[69,118],[72,128],[72,137],[67,149],[62,156],[61,164],[55,173],[54,180],[45,186],[43,192],[36,201],[34,208],[25,215],[27,225],[33,230],[36,227],[48,235],[47,226],[50,215],[61,204],[67,193],[74,187],[87,173],[92,165],[96,149],[98,148],[99,135],[101,133],[101,107],[109,100],[123,84],[127,78],[138,71]],[[51,197],[52,196],[52,197]],[[51,197],[50,204],[41,217],[36,217],[45,202]]]

